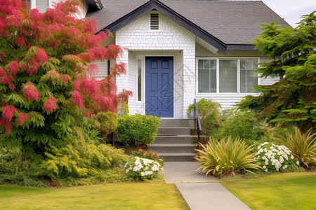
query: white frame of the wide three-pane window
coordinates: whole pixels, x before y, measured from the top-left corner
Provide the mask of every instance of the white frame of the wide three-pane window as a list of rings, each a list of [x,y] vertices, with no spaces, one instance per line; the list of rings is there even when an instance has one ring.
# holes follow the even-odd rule
[[[199,59],[214,59],[216,60],[216,92],[199,92]],[[237,92],[219,92],[219,61],[220,60],[237,60]],[[240,92],[240,60],[241,59],[258,59],[260,63],[260,57],[196,57],[195,60],[195,75],[196,75],[196,95],[199,97],[210,97],[212,95],[232,95],[232,96],[246,96],[246,95],[258,95],[256,92]],[[259,68],[259,65],[258,65]],[[258,85],[260,85],[260,74],[258,73]]]

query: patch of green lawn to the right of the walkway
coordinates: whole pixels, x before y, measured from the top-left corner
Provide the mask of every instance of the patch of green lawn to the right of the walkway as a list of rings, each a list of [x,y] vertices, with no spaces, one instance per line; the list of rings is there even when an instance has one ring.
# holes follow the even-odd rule
[[[316,209],[316,172],[279,173],[221,183],[253,210]]]

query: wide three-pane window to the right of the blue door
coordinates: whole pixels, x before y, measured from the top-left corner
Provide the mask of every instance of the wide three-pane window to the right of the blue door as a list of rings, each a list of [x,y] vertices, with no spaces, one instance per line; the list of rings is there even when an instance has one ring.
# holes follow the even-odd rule
[[[258,59],[198,59],[199,93],[254,93]]]

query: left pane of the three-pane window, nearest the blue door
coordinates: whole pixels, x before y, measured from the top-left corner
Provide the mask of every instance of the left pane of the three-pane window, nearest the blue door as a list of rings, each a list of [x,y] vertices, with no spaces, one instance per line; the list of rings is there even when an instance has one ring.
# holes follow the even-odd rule
[[[216,60],[198,60],[198,92],[216,92]]]

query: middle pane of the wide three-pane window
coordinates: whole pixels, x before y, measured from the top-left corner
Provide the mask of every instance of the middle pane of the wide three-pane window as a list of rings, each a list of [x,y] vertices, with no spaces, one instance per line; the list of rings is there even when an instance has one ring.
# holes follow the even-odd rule
[[[237,92],[237,60],[219,61],[219,92]]]

